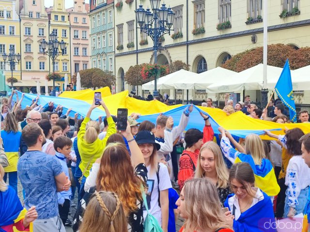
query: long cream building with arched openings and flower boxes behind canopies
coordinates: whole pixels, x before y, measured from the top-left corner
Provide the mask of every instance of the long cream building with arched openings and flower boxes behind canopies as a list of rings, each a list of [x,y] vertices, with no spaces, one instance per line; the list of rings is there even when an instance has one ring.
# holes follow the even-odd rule
[[[262,0],[165,0],[176,14],[171,35],[164,35],[157,53],[159,64],[171,64],[182,60],[190,65],[190,71],[201,73],[220,66],[231,56],[263,46],[263,5]],[[161,2],[163,3],[163,1]],[[144,8],[149,2],[144,1]],[[131,90],[124,82],[124,73],[130,66],[145,62],[154,63],[153,41],[140,34],[134,9],[139,4],[125,4],[121,11],[115,12],[115,45],[122,40],[124,49],[116,50],[115,65],[117,90],[122,86]],[[268,1],[268,44],[290,44],[295,48],[310,46],[310,2],[301,0]],[[124,19],[126,22],[124,22]],[[131,23],[134,23],[132,29]],[[123,28],[117,27],[123,23]],[[174,34],[172,36],[172,34]],[[133,38],[134,37],[134,38]],[[171,37],[174,37],[172,39]],[[140,45],[147,39],[148,44]],[[133,48],[126,44],[132,40]],[[138,91],[141,94],[141,89]],[[256,91],[247,94],[259,99]],[[173,92],[170,96],[173,98]],[[190,90],[188,99],[202,100],[207,96],[200,90]],[[217,97],[221,96],[208,96]],[[177,93],[177,99],[182,98]],[[219,100],[219,99],[218,99]],[[305,93],[303,103],[310,101]]]

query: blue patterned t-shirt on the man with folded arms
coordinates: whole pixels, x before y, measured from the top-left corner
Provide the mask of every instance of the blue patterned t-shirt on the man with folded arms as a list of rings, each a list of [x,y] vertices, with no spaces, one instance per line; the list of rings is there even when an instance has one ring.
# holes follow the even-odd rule
[[[27,151],[18,160],[17,174],[25,190],[25,208],[35,205],[38,219],[58,215],[55,176],[61,173],[59,160],[42,151]]]

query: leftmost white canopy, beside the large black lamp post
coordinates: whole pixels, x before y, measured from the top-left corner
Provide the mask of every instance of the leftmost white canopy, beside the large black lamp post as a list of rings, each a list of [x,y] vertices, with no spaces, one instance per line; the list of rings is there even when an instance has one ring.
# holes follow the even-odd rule
[[[197,73],[181,69],[177,72],[170,73],[157,79],[157,89],[174,89],[176,82],[182,83],[186,79],[191,79]],[[150,81],[142,85],[143,90],[154,90],[155,81]]]

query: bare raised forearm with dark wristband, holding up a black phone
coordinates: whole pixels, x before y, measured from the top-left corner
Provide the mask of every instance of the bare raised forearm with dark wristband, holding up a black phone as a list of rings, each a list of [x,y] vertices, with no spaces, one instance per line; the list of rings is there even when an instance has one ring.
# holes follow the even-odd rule
[[[136,140],[134,139],[134,136],[131,134],[130,124],[128,121],[127,121],[126,131],[121,131],[121,133],[128,142],[129,149],[131,152],[131,162],[133,164],[133,167],[135,168],[138,164],[144,163],[145,161],[144,161],[142,152]]]

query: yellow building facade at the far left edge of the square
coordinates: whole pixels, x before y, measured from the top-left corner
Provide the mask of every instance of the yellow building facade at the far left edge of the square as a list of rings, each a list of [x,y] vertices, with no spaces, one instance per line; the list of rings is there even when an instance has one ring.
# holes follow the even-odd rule
[[[9,54],[10,47],[20,54],[19,2],[17,0],[0,1],[0,69],[4,71],[5,79],[12,76],[8,63],[4,63],[2,54]],[[20,80],[20,65],[13,67],[13,77]],[[10,85],[10,84],[9,84]]]

